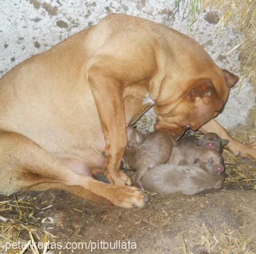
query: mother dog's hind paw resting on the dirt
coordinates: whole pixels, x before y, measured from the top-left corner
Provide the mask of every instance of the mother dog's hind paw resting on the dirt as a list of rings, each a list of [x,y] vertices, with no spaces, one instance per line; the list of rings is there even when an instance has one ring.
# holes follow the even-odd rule
[[[111,201],[120,207],[140,208],[148,202],[148,196],[135,187],[120,186]]]

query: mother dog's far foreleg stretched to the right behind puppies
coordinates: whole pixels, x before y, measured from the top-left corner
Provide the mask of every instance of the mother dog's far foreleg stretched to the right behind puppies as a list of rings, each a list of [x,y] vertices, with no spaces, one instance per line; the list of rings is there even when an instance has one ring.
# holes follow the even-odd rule
[[[252,144],[242,144],[234,138],[232,138],[227,131],[214,119],[211,119],[208,123],[204,124],[200,131],[203,133],[215,132],[222,139],[229,140],[229,143],[224,147],[232,152],[234,155],[241,154],[243,157],[256,158],[256,142]]]

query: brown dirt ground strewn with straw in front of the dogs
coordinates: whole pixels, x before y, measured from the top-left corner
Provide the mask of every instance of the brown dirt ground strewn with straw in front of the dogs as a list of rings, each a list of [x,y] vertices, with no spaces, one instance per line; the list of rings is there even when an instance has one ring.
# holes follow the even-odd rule
[[[0,196],[0,221],[6,219],[0,223],[0,251],[11,240],[30,240],[31,233],[35,242],[49,241],[53,253],[61,254],[254,254],[256,160],[229,152],[224,158],[222,189],[193,196],[148,193],[142,209],[104,207],[58,190]],[[25,253],[43,253],[38,250]]]

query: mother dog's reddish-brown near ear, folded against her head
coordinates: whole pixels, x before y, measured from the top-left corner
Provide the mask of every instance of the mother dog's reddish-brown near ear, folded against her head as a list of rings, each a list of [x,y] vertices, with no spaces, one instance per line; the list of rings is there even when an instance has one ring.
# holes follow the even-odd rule
[[[220,110],[223,105],[223,101],[210,79],[201,79],[195,82],[195,85],[187,93],[190,100],[202,99],[205,104],[211,103],[215,111]]]

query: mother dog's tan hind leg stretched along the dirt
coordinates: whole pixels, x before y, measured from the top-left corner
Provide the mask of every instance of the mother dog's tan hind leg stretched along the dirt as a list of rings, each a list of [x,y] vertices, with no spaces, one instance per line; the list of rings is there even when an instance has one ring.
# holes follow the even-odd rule
[[[24,135],[0,131],[0,193],[50,189],[55,186],[90,200],[109,200],[117,206],[141,207],[147,197],[134,187],[114,186],[79,175]],[[63,187],[66,186],[66,187]],[[85,190],[85,192],[82,192]],[[90,197],[90,193],[93,195]]]

